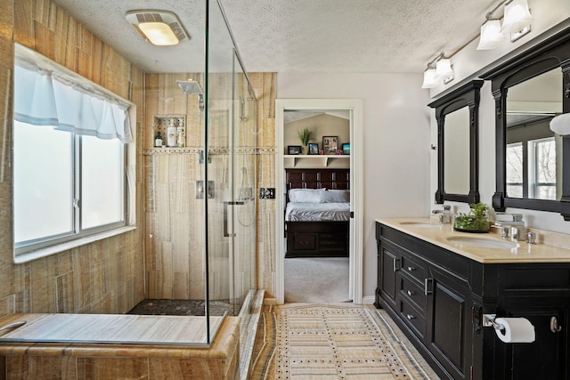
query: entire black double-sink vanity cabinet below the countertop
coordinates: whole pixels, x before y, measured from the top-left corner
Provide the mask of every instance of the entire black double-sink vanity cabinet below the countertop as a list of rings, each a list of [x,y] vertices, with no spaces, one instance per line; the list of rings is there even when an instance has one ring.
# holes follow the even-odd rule
[[[570,263],[479,263],[380,222],[376,233],[375,305],[439,376],[570,379]],[[529,319],[535,342],[503,343],[483,314]]]

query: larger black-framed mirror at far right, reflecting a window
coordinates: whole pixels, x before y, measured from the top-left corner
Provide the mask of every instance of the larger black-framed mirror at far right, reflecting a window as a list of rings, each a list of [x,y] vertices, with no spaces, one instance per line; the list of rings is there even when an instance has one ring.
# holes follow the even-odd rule
[[[570,135],[550,130],[553,117],[570,112],[568,30],[481,77],[492,81],[495,100],[493,208],[559,212],[569,221]]]

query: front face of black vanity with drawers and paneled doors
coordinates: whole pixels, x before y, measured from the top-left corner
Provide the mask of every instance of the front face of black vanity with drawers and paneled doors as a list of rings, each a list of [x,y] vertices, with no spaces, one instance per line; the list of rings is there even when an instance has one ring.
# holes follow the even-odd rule
[[[448,377],[468,378],[471,297],[466,266],[442,257],[451,269],[428,260],[433,247],[378,224],[379,286],[376,306],[395,317],[419,350],[436,361]],[[402,327],[402,326],[401,326]]]

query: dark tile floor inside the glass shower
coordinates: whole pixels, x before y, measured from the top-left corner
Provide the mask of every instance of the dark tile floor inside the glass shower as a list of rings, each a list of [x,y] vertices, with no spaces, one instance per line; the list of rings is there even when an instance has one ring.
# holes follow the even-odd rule
[[[148,299],[134,306],[127,314],[140,315],[193,315],[205,314],[204,300],[161,300]],[[211,316],[238,315],[241,303],[230,303],[228,300],[210,301],[209,314]]]

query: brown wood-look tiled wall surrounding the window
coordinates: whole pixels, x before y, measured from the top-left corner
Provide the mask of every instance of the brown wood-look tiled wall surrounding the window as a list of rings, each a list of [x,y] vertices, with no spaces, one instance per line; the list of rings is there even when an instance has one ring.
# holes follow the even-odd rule
[[[50,0],[0,0],[0,9],[0,315],[129,311],[144,296],[140,211],[137,230],[30,263],[12,263],[13,43],[133,101],[137,130],[144,121],[144,75]],[[136,134],[137,210],[142,210],[143,200],[142,137]]]

